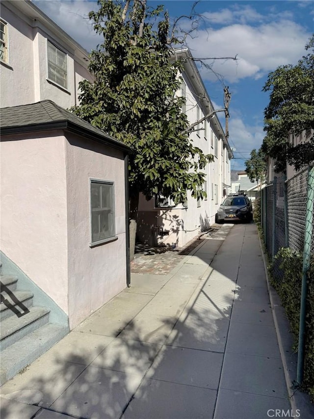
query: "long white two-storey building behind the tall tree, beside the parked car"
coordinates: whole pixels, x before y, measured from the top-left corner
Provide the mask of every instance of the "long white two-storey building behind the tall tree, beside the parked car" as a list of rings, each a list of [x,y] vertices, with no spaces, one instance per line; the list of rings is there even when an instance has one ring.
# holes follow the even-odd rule
[[[214,108],[189,49],[177,50],[175,54],[184,59],[182,91],[178,94],[186,97],[185,112],[192,124]],[[223,196],[230,192],[233,154],[217,114],[197,128],[190,134],[193,144],[205,154],[214,155],[214,161],[203,170],[207,198],[197,201],[188,193],[186,205],[174,206],[168,198],[158,202],[140,196],[137,228],[140,242],[182,247],[215,222]]]

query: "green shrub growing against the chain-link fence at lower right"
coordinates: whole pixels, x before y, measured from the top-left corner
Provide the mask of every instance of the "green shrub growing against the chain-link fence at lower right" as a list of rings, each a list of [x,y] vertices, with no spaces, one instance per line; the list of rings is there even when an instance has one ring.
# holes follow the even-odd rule
[[[298,345],[300,301],[302,285],[303,255],[289,248],[282,248],[275,256],[280,261],[283,279],[273,278],[282,304],[286,309],[291,331],[295,338],[295,348]],[[308,296],[306,307],[306,342],[303,387],[314,401],[314,257],[312,256],[308,271]]]

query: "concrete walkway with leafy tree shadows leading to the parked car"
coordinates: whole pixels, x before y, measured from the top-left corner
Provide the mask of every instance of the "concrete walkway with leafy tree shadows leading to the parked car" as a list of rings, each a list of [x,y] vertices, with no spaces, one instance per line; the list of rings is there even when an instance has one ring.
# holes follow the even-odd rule
[[[1,419],[267,419],[276,409],[291,407],[255,224],[224,224],[167,275],[133,274],[1,388]]]

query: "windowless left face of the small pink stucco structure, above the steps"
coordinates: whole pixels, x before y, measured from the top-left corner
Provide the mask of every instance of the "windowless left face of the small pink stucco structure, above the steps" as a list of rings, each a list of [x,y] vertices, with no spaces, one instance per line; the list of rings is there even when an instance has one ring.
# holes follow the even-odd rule
[[[65,139],[1,138],[0,248],[68,313]]]

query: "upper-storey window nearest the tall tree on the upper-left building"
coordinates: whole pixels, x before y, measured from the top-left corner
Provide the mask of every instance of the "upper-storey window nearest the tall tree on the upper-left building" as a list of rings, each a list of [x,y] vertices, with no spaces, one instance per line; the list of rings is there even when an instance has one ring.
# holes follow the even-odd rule
[[[67,88],[67,55],[51,42],[48,45],[48,79]]]

